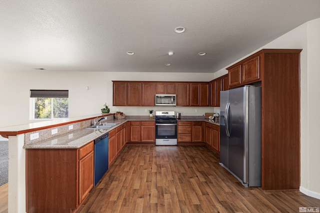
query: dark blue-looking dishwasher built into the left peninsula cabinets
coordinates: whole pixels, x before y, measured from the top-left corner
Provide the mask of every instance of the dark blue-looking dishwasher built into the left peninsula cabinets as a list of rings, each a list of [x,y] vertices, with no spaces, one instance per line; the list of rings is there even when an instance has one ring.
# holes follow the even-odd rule
[[[94,140],[94,186],[99,182],[109,164],[109,133]]]

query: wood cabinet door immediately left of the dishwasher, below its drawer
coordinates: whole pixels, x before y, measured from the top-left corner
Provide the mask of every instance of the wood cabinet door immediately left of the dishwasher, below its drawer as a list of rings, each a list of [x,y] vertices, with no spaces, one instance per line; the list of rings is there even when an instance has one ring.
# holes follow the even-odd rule
[[[94,183],[94,155],[90,154],[79,160],[79,204],[86,198]]]

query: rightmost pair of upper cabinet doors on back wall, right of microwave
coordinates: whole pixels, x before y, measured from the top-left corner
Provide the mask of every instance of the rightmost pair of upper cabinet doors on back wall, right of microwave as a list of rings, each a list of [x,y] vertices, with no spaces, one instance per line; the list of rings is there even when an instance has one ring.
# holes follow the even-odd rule
[[[190,83],[190,106],[209,106],[209,83]]]

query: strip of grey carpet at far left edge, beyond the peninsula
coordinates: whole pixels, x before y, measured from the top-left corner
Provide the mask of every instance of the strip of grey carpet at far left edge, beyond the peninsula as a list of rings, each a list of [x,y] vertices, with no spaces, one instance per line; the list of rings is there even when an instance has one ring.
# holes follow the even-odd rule
[[[8,183],[8,141],[0,141],[0,186]]]

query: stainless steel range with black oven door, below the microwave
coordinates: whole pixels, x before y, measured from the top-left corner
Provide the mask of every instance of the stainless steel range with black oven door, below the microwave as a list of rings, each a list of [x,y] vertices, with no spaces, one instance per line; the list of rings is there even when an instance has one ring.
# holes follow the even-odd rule
[[[155,145],[177,145],[174,111],[155,111]]]

